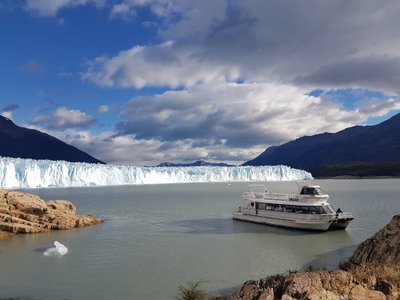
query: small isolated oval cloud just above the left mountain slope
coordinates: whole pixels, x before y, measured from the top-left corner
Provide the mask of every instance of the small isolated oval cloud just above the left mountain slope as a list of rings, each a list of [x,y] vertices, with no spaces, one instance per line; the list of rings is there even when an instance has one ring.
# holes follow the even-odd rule
[[[33,125],[43,124],[48,129],[64,130],[67,128],[87,127],[95,122],[95,119],[85,112],[79,110],[59,107],[47,113],[46,116],[39,116],[31,121]]]

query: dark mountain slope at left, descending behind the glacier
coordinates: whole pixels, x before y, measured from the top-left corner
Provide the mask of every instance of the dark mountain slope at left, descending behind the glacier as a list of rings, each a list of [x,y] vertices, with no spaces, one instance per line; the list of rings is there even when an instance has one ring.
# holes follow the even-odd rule
[[[20,127],[0,116],[0,156],[103,163],[43,132]]]

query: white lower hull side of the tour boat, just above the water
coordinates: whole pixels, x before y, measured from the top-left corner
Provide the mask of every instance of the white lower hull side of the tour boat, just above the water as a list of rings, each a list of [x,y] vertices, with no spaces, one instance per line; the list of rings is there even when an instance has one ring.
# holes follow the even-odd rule
[[[327,231],[333,222],[332,220],[282,219],[267,216],[242,214],[241,212],[233,212],[233,219],[265,225],[313,231]]]

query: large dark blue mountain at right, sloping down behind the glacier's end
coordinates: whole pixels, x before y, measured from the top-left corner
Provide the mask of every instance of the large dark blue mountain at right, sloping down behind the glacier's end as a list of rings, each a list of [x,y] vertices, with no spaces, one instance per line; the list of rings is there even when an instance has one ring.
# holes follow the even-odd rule
[[[283,164],[317,172],[318,176],[393,176],[400,174],[399,163],[400,114],[397,114],[378,125],[354,126],[272,146],[244,165]],[[359,172],[360,168],[363,171]],[[384,169],[390,170],[390,174],[385,174]]]

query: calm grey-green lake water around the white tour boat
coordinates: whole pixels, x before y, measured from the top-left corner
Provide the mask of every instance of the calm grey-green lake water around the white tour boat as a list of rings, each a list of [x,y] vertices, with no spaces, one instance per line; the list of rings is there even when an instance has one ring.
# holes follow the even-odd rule
[[[302,232],[231,219],[248,183],[34,189],[105,219],[84,229],[0,241],[0,299],[174,299],[202,281],[226,294],[249,279],[336,268],[400,211],[400,180],[321,180],[331,204],[353,213],[345,231]],[[268,183],[296,192],[294,182]],[[57,240],[69,252],[44,256]]]

